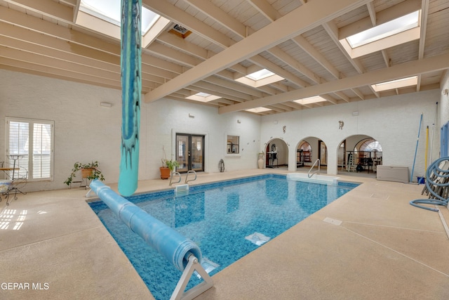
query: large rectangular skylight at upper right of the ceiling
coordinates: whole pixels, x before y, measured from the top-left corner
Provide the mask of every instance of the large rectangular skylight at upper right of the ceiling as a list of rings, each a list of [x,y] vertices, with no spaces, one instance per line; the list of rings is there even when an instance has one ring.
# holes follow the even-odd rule
[[[415,11],[369,30],[358,32],[346,39],[341,39],[340,43],[351,58],[356,58],[420,39],[420,12]]]

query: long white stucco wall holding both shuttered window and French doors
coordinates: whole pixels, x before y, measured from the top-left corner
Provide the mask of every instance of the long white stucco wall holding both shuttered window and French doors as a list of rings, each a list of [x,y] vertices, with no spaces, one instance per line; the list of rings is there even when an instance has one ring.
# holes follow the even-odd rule
[[[100,102],[112,107],[101,107]],[[141,109],[140,180],[159,178],[162,148],[167,156],[173,154],[176,132],[206,135],[208,172],[218,172],[220,159],[225,160],[226,171],[257,168],[260,116],[218,115],[215,107],[167,99],[144,103]],[[26,191],[67,188],[63,181],[76,161],[98,160],[105,182],[118,181],[121,91],[0,70],[0,161],[6,160],[5,117],[55,121],[53,181],[29,182]],[[240,155],[226,155],[227,134],[240,136]]]

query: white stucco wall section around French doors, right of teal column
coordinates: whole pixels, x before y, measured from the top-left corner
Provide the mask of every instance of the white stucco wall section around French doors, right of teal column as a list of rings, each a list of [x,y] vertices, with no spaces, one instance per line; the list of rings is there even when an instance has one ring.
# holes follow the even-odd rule
[[[218,115],[216,107],[168,99],[156,100],[144,107],[148,136],[145,153],[147,164],[142,166],[145,168],[145,178],[159,177],[162,147],[168,158],[175,157],[176,133],[205,136],[206,172],[218,172],[220,159],[224,160],[226,171],[257,168],[257,152],[260,148],[259,116],[242,112]],[[143,122],[141,126],[144,126]],[[228,135],[240,137],[239,155],[227,154]]]

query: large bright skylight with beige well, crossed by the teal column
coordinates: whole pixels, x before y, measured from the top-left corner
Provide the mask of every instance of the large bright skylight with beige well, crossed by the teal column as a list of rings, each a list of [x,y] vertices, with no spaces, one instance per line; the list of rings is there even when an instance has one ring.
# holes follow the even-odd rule
[[[110,37],[120,39],[121,0],[81,0],[76,24],[88,27]],[[156,22],[162,22],[161,27],[168,24],[166,18],[142,7],[142,36],[145,36]],[[151,42],[151,41],[149,41]],[[149,43],[144,42],[144,46]]]

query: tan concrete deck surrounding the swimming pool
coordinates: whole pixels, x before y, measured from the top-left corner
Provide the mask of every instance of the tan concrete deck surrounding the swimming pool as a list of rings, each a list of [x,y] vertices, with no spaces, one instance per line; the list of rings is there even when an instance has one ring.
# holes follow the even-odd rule
[[[288,172],[199,174],[192,184],[266,173]],[[196,299],[449,299],[448,209],[412,207],[423,185],[340,177],[363,185],[214,275]],[[161,188],[168,181],[140,181],[137,193]],[[152,299],[86,192],[0,202],[0,299]]]

